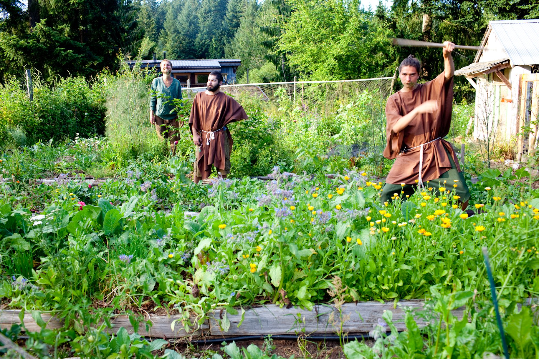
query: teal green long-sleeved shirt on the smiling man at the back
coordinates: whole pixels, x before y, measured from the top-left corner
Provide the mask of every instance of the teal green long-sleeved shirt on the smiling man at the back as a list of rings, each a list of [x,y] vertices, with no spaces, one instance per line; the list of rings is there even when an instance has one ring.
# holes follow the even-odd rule
[[[151,81],[150,110],[162,119],[174,119],[178,116],[174,111],[174,98],[182,98],[182,85],[175,78],[169,87],[165,86],[163,77]]]

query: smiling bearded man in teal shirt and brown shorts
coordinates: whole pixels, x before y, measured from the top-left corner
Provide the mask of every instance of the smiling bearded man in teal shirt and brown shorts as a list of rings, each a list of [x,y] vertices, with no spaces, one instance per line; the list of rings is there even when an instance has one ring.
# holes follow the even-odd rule
[[[184,125],[178,122],[178,113],[172,100],[182,99],[182,85],[170,76],[172,62],[167,59],[161,61],[160,76],[151,82],[150,97],[150,123],[155,124],[157,136],[160,139],[169,139],[170,150],[176,153],[176,144],[179,139],[179,128]]]

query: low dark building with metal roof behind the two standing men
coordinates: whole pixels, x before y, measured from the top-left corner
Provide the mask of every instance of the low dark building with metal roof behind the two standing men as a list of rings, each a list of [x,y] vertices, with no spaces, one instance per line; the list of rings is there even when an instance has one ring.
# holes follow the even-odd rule
[[[167,53],[163,52],[163,58]],[[137,62],[142,68],[159,67],[162,60],[157,60],[154,52],[153,60],[127,61],[133,68]],[[223,85],[236,83],[236,69],[241,65],[240,59],[215,60],[170,60],[172,63],[171,76],[181,82],[182,87],[205,87],[208,75],[212,71],[219,71],[223,75]]]

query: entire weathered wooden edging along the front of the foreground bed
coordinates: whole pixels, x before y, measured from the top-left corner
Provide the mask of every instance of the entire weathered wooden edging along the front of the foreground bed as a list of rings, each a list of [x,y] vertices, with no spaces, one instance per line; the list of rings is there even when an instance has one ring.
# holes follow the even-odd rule
[[[393,302],[358,302],[347,303],[341,307],[343,319],[343,332],[345,333],[367,333],[372,330],[382,319],[384,311],[393,312],[393,320],[398,330],[405,330],[403,319],[405,315],[404,307],[421,310],[424,306],[423,300],[402,300],[395,307]],[[0,328],[9,328],[12,324],[19,324],[19,313],[17,309],[5,309],[0,311]],[[464,308],[455,309],[453,315],[459,319],[464,315]],[[268,335],[268,334],[335,334],[340,329],[340,314],[333,305],[315,305],[312,311],[299,307],[280,308],[274,305],[255,307],[246,309],[244,320],[241,321],[241,309],[238,314],[226,313],[225,309],[217,309],[208,314],[203,325],[194,331],[186,333],[183,329],[181,315],[162,316],[156,314],[144,315],[152,326],[146,330],[146,323],[139,325],[139,334],[149,337],[161,337],[165,339],[182,337],[202,337],[202,336],[237,336],[237,335]],[[227,318],[230,327],[227,332],[222,330],[220,323]],[[48,329],[59,329],[63,327],[63,322],[49,314],[42,313],[43,320],[47,323]],[[177,320],[174,330],[171,329],[172,321]],[[193,322],[194,320],[191,320]],[[419,327],[424,327],[427,322],[423,318],[416,316]],[[133,333],[133,326],[129,322],[128,315],[116,315],[110,320],[112,328],[110,332],[118,332],[120,328],[126,328],[129,333]],[[32,318],[31,312],[24,313],[24,325],[32,332],[41,328]]]

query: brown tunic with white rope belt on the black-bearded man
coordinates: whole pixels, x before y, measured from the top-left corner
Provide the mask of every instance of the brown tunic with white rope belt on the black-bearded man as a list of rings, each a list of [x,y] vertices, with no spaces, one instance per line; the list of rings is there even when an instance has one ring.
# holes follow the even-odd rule
[[[201,132],[201,151],[197,153],[197,166],[201,172],[211,171],[211,166],[225,168],[225,140],[223,136],[229,138],[230,149],[232,149],[232,136],[228,129],[223,127],[231,122],[246,119],[247,114],[241,105],[232,97],[218,92],[215,95],[207,95],[199,92],[193,100],[191,115],[189,116],[189,127],[193,131],[214,131],[215,139],[209,141],[206,136],[209,134]],[[220,130],[220,131],[218,131]]]

